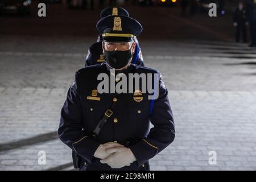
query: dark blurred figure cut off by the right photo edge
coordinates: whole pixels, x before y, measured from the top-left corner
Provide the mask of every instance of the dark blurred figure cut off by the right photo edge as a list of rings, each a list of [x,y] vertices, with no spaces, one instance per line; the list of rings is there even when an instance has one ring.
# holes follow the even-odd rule
[[[251,32],[251,44],[249,46],[256,47],[256,0],[249,0],[246,10]]]

